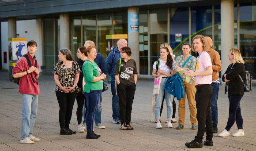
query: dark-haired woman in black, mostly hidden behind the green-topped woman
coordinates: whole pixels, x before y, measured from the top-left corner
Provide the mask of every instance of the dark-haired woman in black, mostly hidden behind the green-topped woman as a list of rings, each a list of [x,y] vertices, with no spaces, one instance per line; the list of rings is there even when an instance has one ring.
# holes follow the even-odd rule
[[[86,98],[83,95],[83,63],[87,59],[85,56],[85,47],[79,47],[77,50],[77,58],[79,58],[78,61],[76,61],[79,65],[79,68],[82,72],[80,72],[79,75],[79,81],[77,83],[79,91],[76,94],[76,101],[77,101],[77,110],[76,110],[76,118],[78,122],[78,129],[77,131],[82,133],[84,132],[84,129],[86,129],[86,124],[84,123],[82,125],[82,118],[83,118],[83,105],[85,106],[85,115],[87,113],[87,106],[86,106]],[[84,116],[85,117],[85,116]],[[84,127],[84,129],[83,129]]]

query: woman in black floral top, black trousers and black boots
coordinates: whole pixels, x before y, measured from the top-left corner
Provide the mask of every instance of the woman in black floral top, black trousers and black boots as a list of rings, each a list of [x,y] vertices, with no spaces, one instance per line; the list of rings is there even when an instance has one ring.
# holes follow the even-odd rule
[[[60,106],[60,135],[72,135],[76,132],[69,129],[69,123],[81,70],[77,62],[73,61],[71,51],[68,48],[60,49],[58,57],[61,62],[56,63],[53,74],[56,83],[56,97]]]

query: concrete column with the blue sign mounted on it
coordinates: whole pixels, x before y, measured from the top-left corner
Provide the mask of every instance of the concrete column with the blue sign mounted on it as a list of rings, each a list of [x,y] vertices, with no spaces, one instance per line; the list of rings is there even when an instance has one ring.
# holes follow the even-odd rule
[[[128,8],[128,13],[129,12],[137,12],[139,15],[139,8],[130,7]],[[128,20],[128,22],[130,21]],[[131,28],[131,27],[128,27],[128,28]],[[139,30],[139,27],[138,27],[138,30]],[[136,61],[138,77],[139,77],[139,32],[128,32],[128,47],[132,49],[132,59]]]

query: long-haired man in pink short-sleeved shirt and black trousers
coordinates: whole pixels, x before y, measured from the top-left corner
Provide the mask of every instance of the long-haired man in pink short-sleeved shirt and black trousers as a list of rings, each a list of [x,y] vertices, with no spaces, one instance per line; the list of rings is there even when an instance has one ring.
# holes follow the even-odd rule
[[[186,76],[195,76],[196,81],[196,118],[198,130],[195,140],[185,145],[188,148],[202,148],[203,144],[213,146],[212,141],[212,119],[211,119],[211,97],[212,97],[212,66],[210,55],[206,52],[209,47],[204,36],[196,35],[193,38],[192,50],[198,52],[195,72],[189,70]],[[206,141],[203,142],[203,135],[206,126]]]

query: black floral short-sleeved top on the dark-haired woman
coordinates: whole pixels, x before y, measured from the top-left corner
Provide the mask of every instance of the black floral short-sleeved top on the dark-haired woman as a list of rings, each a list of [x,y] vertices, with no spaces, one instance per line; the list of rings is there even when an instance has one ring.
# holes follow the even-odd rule
[[[73,61],[71,68],[61,68],[60,66],[60,62],[56,63],[53,70],[53,74],[59,75],[59,80],[62,87],[73,86],[75,82],[75,73],[81,72],[78,63],[76,61]],[[78,90],[77,85],[75,86],[75,89],[69,92],[60,90],[60,87],[56,85],[56,91],[72,93],[75,90]]]

